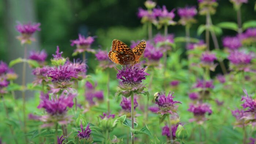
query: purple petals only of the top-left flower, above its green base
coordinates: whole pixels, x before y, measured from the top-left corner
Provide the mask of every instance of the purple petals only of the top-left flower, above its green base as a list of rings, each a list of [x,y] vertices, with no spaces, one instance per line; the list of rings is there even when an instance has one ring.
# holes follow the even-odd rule
[[[18,23],[16,27],[16,30],[19,31],[21,34],[33,34],[35,31],[40,31],[41,29],[39,28],[41,24],[40,23],[27,23],[27,24],[21,24]]]

